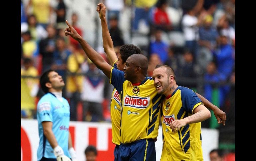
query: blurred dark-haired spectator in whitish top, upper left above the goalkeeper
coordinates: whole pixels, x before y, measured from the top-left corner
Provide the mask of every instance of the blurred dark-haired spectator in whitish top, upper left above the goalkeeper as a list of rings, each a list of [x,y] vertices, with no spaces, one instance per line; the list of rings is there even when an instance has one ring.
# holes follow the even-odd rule
[[[47,31],[39,24],[35,15],[28,16],[28,30],[31,33],[32,40],[39,42],[47,37]]]

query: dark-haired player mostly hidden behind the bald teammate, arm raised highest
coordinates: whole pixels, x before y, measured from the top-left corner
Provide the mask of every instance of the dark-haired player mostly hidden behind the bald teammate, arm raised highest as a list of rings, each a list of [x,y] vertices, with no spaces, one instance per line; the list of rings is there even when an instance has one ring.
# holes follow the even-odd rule
[[[125,62],[129,56],[132,54],[142,54],[141,50],[134,45],[123,45],[120,47],[120,53],[118,57],[115,54],[113,41],[108,31],[107,20],[106,20],[106,7],[103,3],[99,4],[97,7],[99,13],[99,18],[101,19],[102,27],[102,38],[103,38],[103,47],[107,54],[110,64],[113,64],[115,69],[123,71]],[[114,88],[112,93],[111,105],[111,123],[112,123],[112,143],[114,143],[114,157],[115,161],[118,160],[118,149],[120,145],[120,121],[121,121],[121,100],[118,91]]]

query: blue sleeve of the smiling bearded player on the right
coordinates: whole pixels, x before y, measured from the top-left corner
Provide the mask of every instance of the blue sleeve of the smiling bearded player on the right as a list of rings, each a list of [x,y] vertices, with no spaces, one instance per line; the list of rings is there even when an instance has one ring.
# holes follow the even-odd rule
[[[189,112],[192,114],[192,110],[194,106],[202,102],[201,99],[195,94],[194,91],[187,87],[181,87],[181,101],[182,101],[182,106],[185,109],[185,111]]]

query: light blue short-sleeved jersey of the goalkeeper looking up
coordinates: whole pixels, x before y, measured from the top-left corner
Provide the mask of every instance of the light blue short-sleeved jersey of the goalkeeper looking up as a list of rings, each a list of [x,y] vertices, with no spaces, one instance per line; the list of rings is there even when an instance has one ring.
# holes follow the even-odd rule
[[[58,142],[58,145],[63,149],[64,155],[70,157],[68,152],[68,137],[69,137],[69,120],[70,106],[66,99],[59,101],[54,94],[45,94],[37,105],[37,121],[39,132],[39,147],[37,149],[37,160],[42,157],[56,158],[53,153],[53,148],[46,139],[43,132],[43,121],[53,123],[53,133]]]

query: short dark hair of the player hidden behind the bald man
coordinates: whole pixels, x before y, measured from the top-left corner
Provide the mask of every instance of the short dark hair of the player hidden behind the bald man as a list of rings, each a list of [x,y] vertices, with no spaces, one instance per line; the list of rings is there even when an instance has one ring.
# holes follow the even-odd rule
[[[141,50],[133,44],[121,46],[119,53],[121,54],[123,63],[125,63],[128,57],[133,54],[142,54]]]

